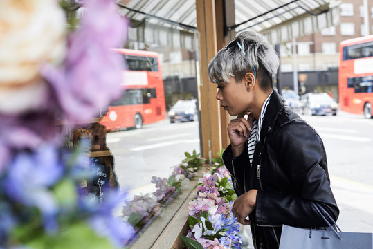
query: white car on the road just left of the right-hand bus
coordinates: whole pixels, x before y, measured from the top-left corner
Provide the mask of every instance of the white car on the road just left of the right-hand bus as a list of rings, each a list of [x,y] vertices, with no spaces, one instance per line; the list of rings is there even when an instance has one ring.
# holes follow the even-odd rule
[[[304,115],[337,115],[338,104],[327,93],[306,93],[300,102]]]

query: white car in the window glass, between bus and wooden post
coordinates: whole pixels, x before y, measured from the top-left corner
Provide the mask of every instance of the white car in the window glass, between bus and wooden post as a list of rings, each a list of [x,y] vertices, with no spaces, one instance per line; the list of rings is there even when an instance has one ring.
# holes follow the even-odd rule
[[[179,100],[168,112],[170,122],[198,120],[197,100]]]

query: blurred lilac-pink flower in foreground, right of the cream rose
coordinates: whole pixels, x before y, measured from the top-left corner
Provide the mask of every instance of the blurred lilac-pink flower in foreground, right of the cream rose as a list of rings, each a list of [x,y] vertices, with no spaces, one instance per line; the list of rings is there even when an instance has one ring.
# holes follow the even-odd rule
[[[117,15],[112,0],[90,0],[84,7],[88,13],[69,37],[65,66],[42,70],[68,123],[89,122],[121,94],[122,57],[111,49],[123,44],[127,19]]]

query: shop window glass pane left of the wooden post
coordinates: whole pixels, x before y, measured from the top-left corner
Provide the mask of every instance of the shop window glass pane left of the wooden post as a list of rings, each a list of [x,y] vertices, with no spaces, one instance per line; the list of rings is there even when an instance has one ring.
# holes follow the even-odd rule
[[[134,4],[136,1],[128,1],[130,8]],[[174,167],[185,158],[185,151],[199,154],[201,150],[198,35],[196,30],[170,25],[170,20],[183,22],[179,18],[187,10],[179,12],[175,6],[180,5],[169,2],[159,9],[149,4],[141,9],[163,19],[126,8],[119,10],[129,19],[130,27],[127,42],[111,48],[120,59],[123,76],[117,97],[91,124],[81,125],[69,134],[72,147],[89,140],[89,158],[95,166],[95,175],[87,181],[89,192],[103,202],[109,190],[129,192],[128,201],[137,198],[147,203],[147,214],[155,214],[158,211],[152,207],[160,208],[164,203],[154,194],[154,183],[163,184],[163,179],[172,175]],[[189,12],[195,12],[194,5],[190,8]],[[122,215],[121,211],[116,215]],[[145,216],[144,212],[136,215]],[[125,219],[133,221],[128,217],[130,209],[123,213]],[[136,228],[143,225],[145,222]]]

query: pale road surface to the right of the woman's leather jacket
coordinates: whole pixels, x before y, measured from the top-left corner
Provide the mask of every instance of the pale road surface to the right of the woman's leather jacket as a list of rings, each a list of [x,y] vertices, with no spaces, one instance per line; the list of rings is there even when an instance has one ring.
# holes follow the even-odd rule
[[[331,188],[345,232],[373,232],[373,120],[339,112],[302,116],[324,141]]]

